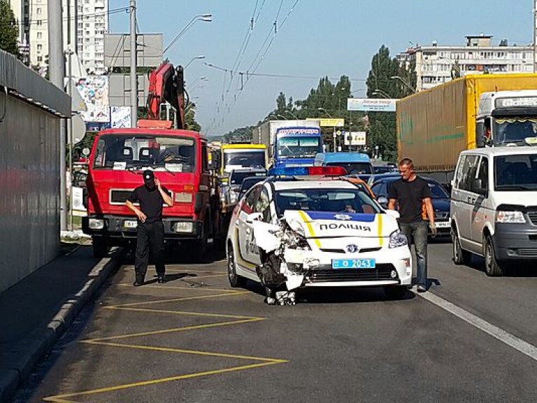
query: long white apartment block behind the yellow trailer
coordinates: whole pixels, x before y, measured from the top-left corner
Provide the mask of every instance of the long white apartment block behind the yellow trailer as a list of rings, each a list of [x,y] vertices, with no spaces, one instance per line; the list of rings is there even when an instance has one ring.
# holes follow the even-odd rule
[[[465,45],[415,45],[397,55],[401,65],[415,68],[416,90],[427,90],[457,76],[475,73],[534,71],[533,45],[492,44],[492,36],[466,36]]]

